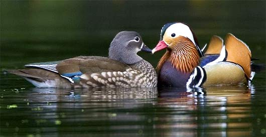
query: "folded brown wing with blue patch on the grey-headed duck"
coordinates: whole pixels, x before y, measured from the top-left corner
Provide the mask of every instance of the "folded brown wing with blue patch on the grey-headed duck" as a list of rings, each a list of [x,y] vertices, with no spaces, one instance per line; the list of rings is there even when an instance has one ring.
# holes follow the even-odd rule
[[[63,60],[56,66],[58,73],[72,83],[79,81],[83,74],[123,72],[128,68],[128,65],[119,61],[99,56],[79,56]]]

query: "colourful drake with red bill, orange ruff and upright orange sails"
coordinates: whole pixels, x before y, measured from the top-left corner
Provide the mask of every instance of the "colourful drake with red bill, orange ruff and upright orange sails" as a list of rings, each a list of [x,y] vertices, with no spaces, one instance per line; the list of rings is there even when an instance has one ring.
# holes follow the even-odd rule
[[[213,36],[204,55],[198,45],[188,25],[164,25],[161,40],[152,51],[167,49],[157,66],[159,86],[247,84],[253,78],[251,52],[232,34],[226,35],[224,45],[220,37]]]

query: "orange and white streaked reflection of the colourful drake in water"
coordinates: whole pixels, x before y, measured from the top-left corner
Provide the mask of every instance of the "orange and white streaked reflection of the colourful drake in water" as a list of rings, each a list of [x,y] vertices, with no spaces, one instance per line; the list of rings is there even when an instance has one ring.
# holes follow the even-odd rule
[[[160,89],[158,105],[168,113],[159,118],[164,124],[156,128],[167,130],[163,136],[252,135],[247,119],[253,93],[252,85]]]

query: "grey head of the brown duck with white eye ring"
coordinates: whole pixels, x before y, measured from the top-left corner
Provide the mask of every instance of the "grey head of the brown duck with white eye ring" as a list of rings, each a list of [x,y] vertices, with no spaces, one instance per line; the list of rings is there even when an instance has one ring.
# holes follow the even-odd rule
[[[119,32],[112,40],[109,48],[109,58],[125,64],[135,64],[142,60],[137,55],[139,51],[152,53],[139,33],[134,31]]]

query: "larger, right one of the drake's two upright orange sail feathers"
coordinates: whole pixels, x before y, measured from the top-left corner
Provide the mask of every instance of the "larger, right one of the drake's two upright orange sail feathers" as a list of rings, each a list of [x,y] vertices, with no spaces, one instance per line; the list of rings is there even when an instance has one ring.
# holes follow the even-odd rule
[[[239,64],[244,69],[245,75],[249,78],[251,73],[251,52],[247,45],[228,33],[225,39],[225,49],[228,54],[226,61]]]

